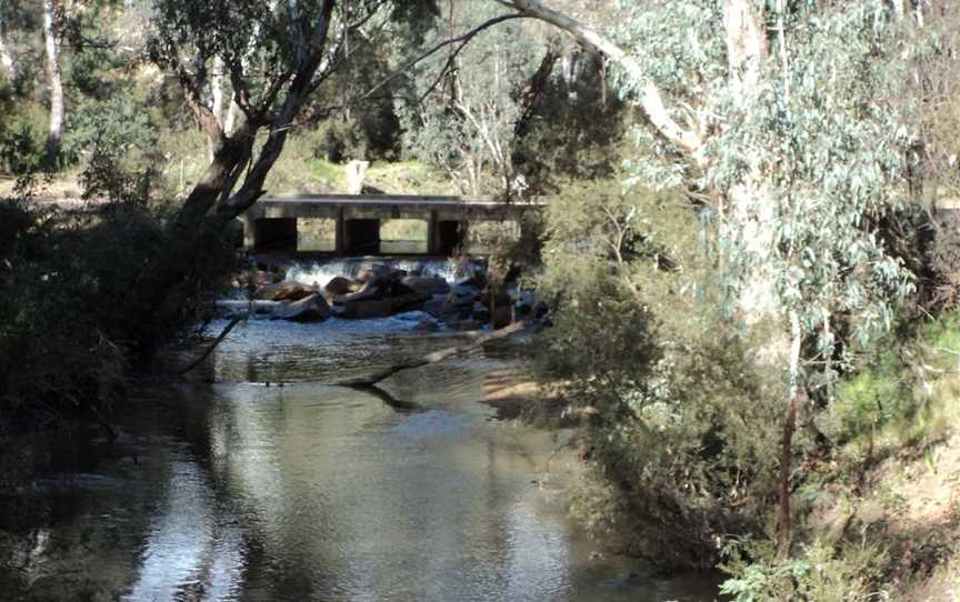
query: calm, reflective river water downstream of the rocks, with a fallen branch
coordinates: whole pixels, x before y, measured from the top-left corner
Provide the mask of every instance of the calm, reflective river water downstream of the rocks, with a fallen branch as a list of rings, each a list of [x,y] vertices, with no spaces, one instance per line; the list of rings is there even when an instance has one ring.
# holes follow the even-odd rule
[[[330,384],[462,341],[419,318],[251,320],[191,381],[138,383],[117,442],[53,454],[0,600],[712,600],[567,519],[570,433],[483,402],[522,343]]]

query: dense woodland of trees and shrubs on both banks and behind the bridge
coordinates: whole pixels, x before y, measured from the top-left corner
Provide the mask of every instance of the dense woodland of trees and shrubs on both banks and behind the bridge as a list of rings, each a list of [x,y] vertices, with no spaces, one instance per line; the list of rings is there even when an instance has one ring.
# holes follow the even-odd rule
[[[878,482],[957,445],[958,23],[948,0],[4,0],[0,440],[122,412],[237,261],[234,218],[368,160],[384,192],[548,203],[498,261],[542,263],[528,413],[579,429],[598,538],[722,568],[734,600],[947,600],[956,506],[908,529],[910,481]]]

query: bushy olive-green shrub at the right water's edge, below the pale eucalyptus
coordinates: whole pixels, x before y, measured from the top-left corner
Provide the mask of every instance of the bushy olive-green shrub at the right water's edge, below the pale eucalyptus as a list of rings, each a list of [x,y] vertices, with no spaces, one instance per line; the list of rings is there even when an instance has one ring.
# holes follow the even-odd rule
[[[673,194],[570,189],[548,209],[538,292],[556,308],[540,369],[583,417],[596,470],[574,512],[632,552],[706,568],[714,534],[763,522],[782,389],[697,285],[713,270],[697,228]]]

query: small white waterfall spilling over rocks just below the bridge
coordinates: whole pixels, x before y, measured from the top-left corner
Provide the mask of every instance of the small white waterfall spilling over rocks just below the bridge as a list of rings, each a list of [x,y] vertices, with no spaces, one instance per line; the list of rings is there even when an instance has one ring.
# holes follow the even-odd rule
[[[287,270],[287,280],[296,280],[303,284],[326,287],[333,278],[342,275],[356,278],[364,268],[382,263],[406,270],[419,272],[420,275],[441,277],[450,283],[472,275],[487,268],[482,259],[451,259],[451,258],[403,258],[403,257],[357,257],[357,258],[330,258],[321,260],[293,260]]]

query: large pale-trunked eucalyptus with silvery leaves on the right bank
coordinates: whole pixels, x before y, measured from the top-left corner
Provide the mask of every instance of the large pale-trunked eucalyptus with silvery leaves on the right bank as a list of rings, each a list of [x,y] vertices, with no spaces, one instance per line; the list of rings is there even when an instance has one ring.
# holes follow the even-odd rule
[[[784,373],[786,549],[803,389],[812,372],[832,373],[838,323],[862,341],[890,322],[911,287],[878,223],[908,202],[917,123],[903,91],[919,9],[882,0],[621,2],[621,26],[601,33],[536,0],[496,1],[618,66],[616,86],[636,107],[643,149],[630,161],[632,178],[687,187],[718,234],[730,298],[748,322],[774,329],[760,355]]]

